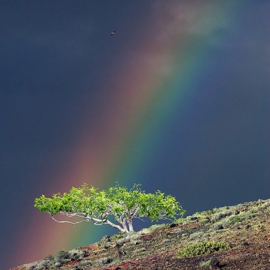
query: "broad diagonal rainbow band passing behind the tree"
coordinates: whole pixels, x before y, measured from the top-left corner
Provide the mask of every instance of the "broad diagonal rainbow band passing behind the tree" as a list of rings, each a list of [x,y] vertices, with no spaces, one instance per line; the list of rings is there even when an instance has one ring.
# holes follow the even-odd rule
[[[103,99],[96,125],[87,126],[89,115],[85,115],[74,155],[63,165],[70,169],[52,176],[55,185],[45,194],[67,191],[83,182],[99,188],[115,181],[132,185],[132,176],[145,166],[143,157],[157,147],[164,123],[174,117],[175,110],[184,113],[189,106],[197,89],[195,81],[204,76],[205,59],[215,57],[209,44],[217,42],[216,30],[235,23],[240,3],[209,1],[192,8],[163,3],[160,9],[167,13],[142,31],[132,55],[126,53],[111,67],[107,81],[115,94]],[[86,225],[56,224],[46,215],[35,214],[28,228],[22,228],[16,261],[27,263],[92,243],[98,235]]]

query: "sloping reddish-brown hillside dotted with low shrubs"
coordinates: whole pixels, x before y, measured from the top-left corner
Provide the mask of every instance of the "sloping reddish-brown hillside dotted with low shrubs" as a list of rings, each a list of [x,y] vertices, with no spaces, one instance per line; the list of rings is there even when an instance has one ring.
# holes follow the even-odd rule
[[[14,270],[270,269],[270,199],[225,206],[59,251]]]

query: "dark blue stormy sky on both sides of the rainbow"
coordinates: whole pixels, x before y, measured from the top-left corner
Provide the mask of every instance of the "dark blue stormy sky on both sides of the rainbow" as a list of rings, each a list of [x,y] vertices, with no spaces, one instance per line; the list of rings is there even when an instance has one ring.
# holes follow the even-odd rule
[[[103,100],[118,91],[108,78],[121,75],[126,55],[147,31],[158,30],[153,5],[1,2],[1,269],[28,261],[11,258],[29,218],[42,215],[33,210],[33,199],[57,185],[51,176],[67,169],[83,127],[98,125]],[[269,198],[269,12],[267,0],[242,1],[236,25],[221,34],[222,45],[209,45],[211,57],[187,93],[189,102],[168,117],[131,183],[181,193],[189,213]]]

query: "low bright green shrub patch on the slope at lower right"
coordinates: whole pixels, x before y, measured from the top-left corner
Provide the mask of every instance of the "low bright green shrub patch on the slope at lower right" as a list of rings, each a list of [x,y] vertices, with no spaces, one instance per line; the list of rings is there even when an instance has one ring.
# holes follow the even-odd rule
[[[229,249],[230,246],[227,243],[222,242],[197,242],[190,244],[184,248],[181,248],[176,253],[178,258],[182,257],[194,257],[196,255],[209,254],[219,250]]]

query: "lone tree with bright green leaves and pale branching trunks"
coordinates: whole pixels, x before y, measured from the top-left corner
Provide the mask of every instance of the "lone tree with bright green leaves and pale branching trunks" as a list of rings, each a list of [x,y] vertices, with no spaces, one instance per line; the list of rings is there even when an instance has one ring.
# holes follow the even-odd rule
[[[94,222],[96,225],[108,224],[122,232],[133,231],[133,218],[148,217],[151,221],[175,219],[183,216],[185,210],[171,195],[164,195],[160,190],[145,193],[140,184],[132,189],[116,185],[108,190],[88,187],[83,183],[81,188],[72,188],[69,193],[56,193],[52,198],[41,195],[35,199],[34,207],[40,212],[47,212],[59,223],[79,224]],[[77,217],[78,221],[59,221],[56,215]],[[108,218],[114,216],[118,224]]]

